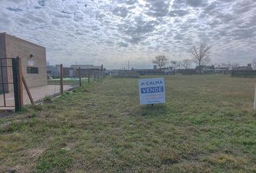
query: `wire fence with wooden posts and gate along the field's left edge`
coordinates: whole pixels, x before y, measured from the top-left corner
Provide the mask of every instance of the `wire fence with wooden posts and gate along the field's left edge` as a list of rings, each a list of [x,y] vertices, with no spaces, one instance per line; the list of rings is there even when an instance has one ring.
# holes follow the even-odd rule
[[[13,59],[21,62],[19,57]],[[26,69],[22,71],[21,63],[12,66],[12,58],[0,61],[0,109],[12,107],[18,110],[22,105],[44,102],[104,77],[101,69],[67,68],[62,64],[48,68],[47,74],[39,74],[40,69]],[[17,74],[13,75],[13,71]],[[14,78],[17,78],[16,86]]]

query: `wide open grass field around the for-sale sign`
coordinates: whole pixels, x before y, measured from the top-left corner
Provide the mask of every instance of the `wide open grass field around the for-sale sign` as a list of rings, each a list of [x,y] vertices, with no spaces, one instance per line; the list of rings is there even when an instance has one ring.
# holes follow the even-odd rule
[[[106,77],[1,117],[0,172],[256,172],[255,79],[165,79],[165,105]]]

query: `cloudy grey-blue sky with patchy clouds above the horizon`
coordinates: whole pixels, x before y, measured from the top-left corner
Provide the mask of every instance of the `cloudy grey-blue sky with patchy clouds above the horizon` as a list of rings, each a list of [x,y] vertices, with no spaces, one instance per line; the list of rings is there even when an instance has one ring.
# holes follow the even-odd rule
[[[51,64],[152,68],[212,45],[210,64],[256,58],[255,0],[0,0],[0,32],[46,47]],[[210,65],[209,64],[209,65]]]

